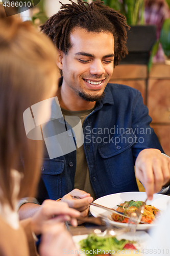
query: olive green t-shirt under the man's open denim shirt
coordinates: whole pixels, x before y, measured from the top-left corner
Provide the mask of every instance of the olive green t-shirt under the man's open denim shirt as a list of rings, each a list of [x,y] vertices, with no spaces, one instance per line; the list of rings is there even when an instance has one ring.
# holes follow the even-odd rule
[[[82,111],[69,111],[61,108],[61,111],[63,116],[78,116],[83,125],[85,118],[93,111],[93,109],[94,108]],[[76,174],[74,188],[84,190],[87,193],[90,193],[94,200],[96,199],[94,190],[90,183],[89,169],[83,145],[76,150]]]

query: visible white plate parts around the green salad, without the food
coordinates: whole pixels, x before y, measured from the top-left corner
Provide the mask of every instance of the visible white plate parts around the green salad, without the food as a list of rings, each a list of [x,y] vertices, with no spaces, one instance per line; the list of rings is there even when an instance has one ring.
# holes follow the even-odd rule
[[[79,236],[72,237],[78,250],[80,249],[79,242],[83,239],[86,239],[87,236],[88,234],[81,234]],[[127,239],[130,241],[135,241],[136,243],[134,244],[134,246],[141,252],[145,248],[147,241],[150,239],[150,236],[145,231],[136,231],[135,233],[128,232],[128,233],[122,234],[121,236],[117,236],[116,238],[118,240]],[[80,254],[85,255],[84,253],[82,253],[82,250],[80,252],[81,252]],[[133,254],[134,254],[134,251],[133,251]]]

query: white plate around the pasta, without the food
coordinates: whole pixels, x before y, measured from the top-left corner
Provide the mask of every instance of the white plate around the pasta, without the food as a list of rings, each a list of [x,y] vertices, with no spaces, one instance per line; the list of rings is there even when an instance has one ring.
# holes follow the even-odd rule
[[[130,201],[130,200],[145,201],[146,198],[147,198],[147,194],[145,192],[125,192],[125,193],[117,193],[117,194],[101,197],[96,199],[94,202],[109,208],[116,209],[117,205],[119,205],[120,203],[124,203],[125,201]],[[154,194],[153,200],[151,201],[148,200],[147,204],[154,205],[159,210],[164,211],[167,208],[167,203],[169,202],[169,200],[170,200],[169,196]],[[90,205],[90,212],[94,217],[99,217],[100,214],[105,214],[107,216],[110,216],[110,212],[93,205]],[[112,221],[111,216],[108,218],[108,220],[111,224],[113,224],[116,227],[127,227],[128,225],[127,223]],[[155,225],[156,224],[138,224],[137,230],[149,229]]]

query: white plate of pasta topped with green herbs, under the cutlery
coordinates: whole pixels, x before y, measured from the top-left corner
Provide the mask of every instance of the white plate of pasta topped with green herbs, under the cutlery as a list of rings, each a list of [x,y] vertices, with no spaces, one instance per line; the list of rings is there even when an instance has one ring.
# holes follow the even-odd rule
[[[94,202],[130,216],[131,212],[139,208],[146,198],[147,194],[145,192],[125,192],[104,196]],[[157,225],[157,220],[161,218],[163,211],[166,210],[169,200],[169,196],[160,194],[154,194],[151,201],[147,200],[141,219],[144,224],[138,224],[137,230],[145,230]],[[94,217],[100,217],[101,214],[107,216],[108,221],[116,227],[127,227],[128,225],[128,218],[111,214],[102,208],[90,205],[90,212]]]

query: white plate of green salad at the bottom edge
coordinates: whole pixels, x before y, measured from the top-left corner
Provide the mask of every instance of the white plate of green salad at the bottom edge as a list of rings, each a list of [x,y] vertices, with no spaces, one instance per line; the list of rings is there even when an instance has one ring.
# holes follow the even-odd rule
[[[137,231],[125,233],[117,237],[99,237],[94,233],[74,236],[73,240],[80,254],[83,255],[114,255],[138,254],[150,239],[148,233]]]

